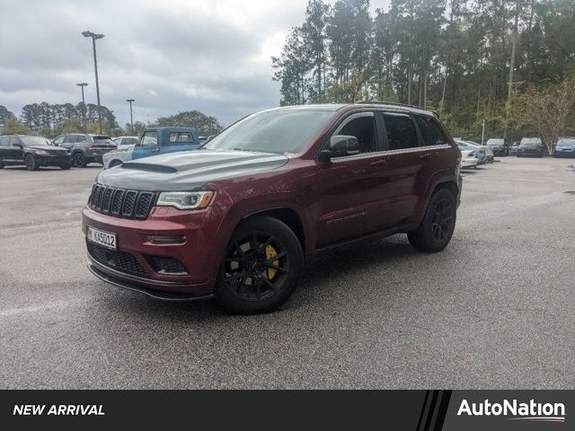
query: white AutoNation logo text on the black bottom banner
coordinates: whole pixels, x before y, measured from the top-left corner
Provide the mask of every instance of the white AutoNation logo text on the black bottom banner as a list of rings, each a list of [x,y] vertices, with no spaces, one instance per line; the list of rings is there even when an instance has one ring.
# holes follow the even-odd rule
[[[457,416],[504,416],[510,420],[532,420],[538,422],[565,422],[565,405],[562,402],[518,402],[503,400],[502,402],[472,402],[462,400]]]

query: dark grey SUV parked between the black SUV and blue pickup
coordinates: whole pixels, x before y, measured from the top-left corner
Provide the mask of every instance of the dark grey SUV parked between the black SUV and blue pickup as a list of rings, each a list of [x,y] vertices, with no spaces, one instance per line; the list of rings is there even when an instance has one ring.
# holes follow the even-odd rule
[[[54,138],[53,145],[66,148],[72,154],[75,167],[84,168],[88,163],[102,163],[102,155],[115,150],[110,136],[88,133],[68,133]]]

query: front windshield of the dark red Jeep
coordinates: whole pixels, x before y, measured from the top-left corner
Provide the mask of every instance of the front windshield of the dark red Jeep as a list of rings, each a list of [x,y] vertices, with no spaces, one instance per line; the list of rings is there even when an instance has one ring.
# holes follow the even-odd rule
[[[332,115],[332,110],[258,112],[226,128],[204,148],[296,154],[305,148]]]

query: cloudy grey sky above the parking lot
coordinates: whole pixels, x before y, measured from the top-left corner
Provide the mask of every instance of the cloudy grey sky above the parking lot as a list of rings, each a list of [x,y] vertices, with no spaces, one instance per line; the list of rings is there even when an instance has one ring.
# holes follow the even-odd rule
[[[331,0],[329,3],[333,3]],[[372,12],[388,0],[371,0]],[[0,0],[0,105],[96,102],[90,30],[102,104],[119,124],[200,110],[229,124],[279,104],[270,57],[307,0]]]

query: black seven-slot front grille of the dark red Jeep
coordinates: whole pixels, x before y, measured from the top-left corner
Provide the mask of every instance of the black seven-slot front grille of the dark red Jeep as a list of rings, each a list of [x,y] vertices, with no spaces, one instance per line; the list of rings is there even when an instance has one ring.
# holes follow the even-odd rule
[[[145,219],[155,205],[157,193],[118,189],[94,184],[88,205],[109,216]]]

